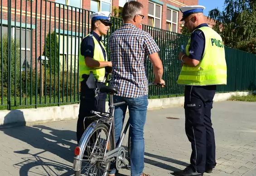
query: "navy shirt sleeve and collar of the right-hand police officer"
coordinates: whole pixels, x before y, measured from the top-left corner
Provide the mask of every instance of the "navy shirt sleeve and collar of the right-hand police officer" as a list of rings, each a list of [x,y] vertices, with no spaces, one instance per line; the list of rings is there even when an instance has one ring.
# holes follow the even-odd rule
[[[208,25],[206,23],[200,24],[196,29]],[[200,61],[203,58],[205,37],[201,30],[196,30],[191,34],[190,46],[188,48],[189,58]]]

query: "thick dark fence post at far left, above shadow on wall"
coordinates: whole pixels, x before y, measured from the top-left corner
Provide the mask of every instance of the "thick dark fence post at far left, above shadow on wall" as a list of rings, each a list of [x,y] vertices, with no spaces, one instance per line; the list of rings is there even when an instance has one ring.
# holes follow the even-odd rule
[[[11,0],[8,0],[8,48],[7,48],[7,65],[8,65],[8,81],[7,81],[7,105],[11,110]]]

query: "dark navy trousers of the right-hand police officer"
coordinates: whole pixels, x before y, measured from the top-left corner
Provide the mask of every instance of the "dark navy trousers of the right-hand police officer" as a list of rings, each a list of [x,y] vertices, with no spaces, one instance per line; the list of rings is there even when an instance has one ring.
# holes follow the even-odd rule
[[[185,86],[185,131],[192,147],[190,163],[199,173],[216,166],[211,120],[215,92],[216,85]]]

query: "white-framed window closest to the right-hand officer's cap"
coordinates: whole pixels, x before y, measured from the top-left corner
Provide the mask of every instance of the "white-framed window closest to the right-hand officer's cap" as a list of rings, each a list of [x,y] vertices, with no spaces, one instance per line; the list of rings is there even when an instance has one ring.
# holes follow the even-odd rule
[[[178,12],[173,9],[167,9],[166,15],[166,30],[177,32],[178,31]]]

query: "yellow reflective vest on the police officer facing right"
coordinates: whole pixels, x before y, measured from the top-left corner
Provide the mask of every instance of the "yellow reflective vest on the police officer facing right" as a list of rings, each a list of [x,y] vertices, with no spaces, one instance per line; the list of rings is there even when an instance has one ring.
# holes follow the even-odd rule
[[[94,41],[93,59],[98,60],[98,61],[105,61],[103,52],[101,50],[101,46],[102,46],[104,48],[104,50],[106,51],[106,48],[103,45],[103,43],[101,42],[101,46],[100,46],[99,42],[92,34],[88,34],[86,37],[88,37],[88,36],[92,37],[93,41]],[[81,41],[81,43],[82,43],[82,41]],[[80,43],[80,48],[81,48],[81,43]],[[107,60],[107,56],[106,56],[106,60]],[[90,71],[93,72],[95,78],[98,81],[103,81],[103,79],[105,77],[105,67],[102,67],[102,68],[87,67],[87,65],[85,64],[84,56],[81,55],[81,50],[80,50],[79,51],[79,81],[81,82],[83,80],[82,79],[83,74],[89,75]]]

